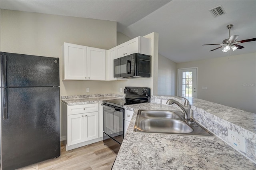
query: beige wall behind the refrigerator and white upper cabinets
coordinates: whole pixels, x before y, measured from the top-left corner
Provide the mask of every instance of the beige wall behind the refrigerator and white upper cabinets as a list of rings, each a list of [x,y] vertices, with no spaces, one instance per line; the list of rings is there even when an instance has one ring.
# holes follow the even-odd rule
[[[112,93],[109,81],[62,80],[64,42],[110,49],[116,46],[116,22],[1,10],[1,51],[59,57],[60,95]]]

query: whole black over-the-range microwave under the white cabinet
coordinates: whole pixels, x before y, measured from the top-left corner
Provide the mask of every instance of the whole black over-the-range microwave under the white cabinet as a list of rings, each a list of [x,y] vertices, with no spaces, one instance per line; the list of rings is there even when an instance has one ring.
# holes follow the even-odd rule
[[[134,53],[114,59],[114,77],[151,77],[151,55]]]

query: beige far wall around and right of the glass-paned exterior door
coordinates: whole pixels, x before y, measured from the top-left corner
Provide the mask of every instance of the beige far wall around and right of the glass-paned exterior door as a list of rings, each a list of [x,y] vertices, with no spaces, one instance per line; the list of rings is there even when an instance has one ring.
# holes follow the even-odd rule
[[[256,53],[177,63],[188,67],[198,67],[199,99],[256,113]]]

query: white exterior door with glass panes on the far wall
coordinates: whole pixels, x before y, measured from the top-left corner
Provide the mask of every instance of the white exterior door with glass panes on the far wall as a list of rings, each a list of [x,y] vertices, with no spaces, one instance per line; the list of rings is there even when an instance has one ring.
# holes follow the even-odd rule
[[[178,69],[178,96],[197,97],[197,68]]]

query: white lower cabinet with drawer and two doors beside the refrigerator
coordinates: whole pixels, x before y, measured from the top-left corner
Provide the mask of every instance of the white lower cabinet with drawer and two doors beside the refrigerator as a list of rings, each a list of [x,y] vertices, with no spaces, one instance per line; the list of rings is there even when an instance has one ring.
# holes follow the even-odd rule
[[[62,103],[63,105],[64,103]],[[62,107],[64,108],[64,107]],[[67,143],[71,150],[102,140],[102,111],[98,103],[87,105],[66,105]]]

